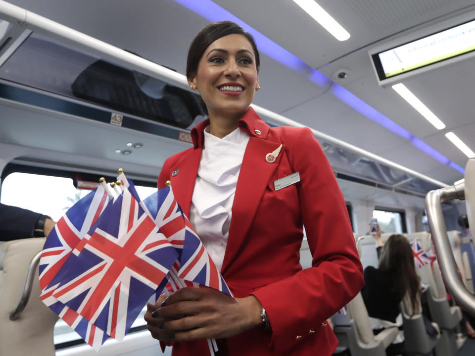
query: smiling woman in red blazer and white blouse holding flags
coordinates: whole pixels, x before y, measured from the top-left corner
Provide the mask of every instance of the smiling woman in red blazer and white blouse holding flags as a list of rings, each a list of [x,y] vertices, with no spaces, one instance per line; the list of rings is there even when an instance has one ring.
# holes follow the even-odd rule
[[[158,188],[171,182],[236,300],[185,288],[149,305],[148,329],[174,343],[173,355],[208,355],[206,338],[220,339],[223,355],[332,355],[324,321],[363,284],[343,197],[312,132],[270,128],[249,106],[258,70],[254,40],[235,23],[205,27],[190,46],[188,82],[209,120],[191,131],[192,148],[165,161]]]

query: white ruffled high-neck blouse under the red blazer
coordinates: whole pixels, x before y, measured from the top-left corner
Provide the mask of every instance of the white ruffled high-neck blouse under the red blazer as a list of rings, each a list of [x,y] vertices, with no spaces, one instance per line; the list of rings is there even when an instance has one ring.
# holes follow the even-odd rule
[[[249,135],[237,128],[222,139],[204,130],[204,145],[191,198],[190,222],[221,270],[231,208]]]

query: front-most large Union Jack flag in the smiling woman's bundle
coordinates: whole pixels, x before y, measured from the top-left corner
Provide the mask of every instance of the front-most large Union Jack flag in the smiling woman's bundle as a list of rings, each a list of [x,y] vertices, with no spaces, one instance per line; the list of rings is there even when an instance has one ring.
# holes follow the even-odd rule
[[[128,189],[88,235],[64,263],[52,296],[122,340],[178,254]]]

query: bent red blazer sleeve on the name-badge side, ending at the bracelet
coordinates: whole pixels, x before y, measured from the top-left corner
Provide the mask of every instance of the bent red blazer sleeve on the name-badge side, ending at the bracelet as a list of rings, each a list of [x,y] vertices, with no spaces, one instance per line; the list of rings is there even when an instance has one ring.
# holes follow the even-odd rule
[[[346,305],[364,285],[343,195],[332,167],[309,129],[288,145],[294,172],[300,173],[298,199],[312,267],[252,293],[264,306],[276,352],[312,337],[322,322]],[[298,337],[298,336],[301,337]]]

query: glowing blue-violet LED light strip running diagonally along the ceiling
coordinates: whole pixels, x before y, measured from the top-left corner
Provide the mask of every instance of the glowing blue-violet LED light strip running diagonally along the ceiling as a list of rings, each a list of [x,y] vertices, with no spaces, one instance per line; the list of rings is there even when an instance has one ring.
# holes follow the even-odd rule
[[[285,48],[279,46],[274,41],[270,40],[263,34],[261,34],[256,29],[252,28],[241,19],[233,15],[228,10],[222,8],[218,4],[214,3],[211,0],[174,0],[179,4],[187,7],[191,11],[197,13],[198,15],[203,16],[204,18],[208,19],[211,22],[216,21],[233,21],[241,26],[244,30],[249,32],[255,39],[257,48],[259,51],[265,53],[269,57],[275,59],[279,63],[285,65],[286,67],[292,69],[295,72],[303,74],[307,77],[308,80],[315,83],[320,87],[328,87],[332,84],[332,81],[327,78],[325,75],[317,71],[316,69],[312,68],[305,62],[303,62],[300,58],[296,57],[289,51],[285,50]],[[442,164],[446,164],[453,169],[456,169],[462,174],[465,174],[465,169],[460,167],[459,165],[452,162],[450,159],[445,157],[442,153],[439,153],[425,142],[423,142],[420,138],[414,136],[409,131],[404,129],[403,127],[396,124],[387,116],[381,114],[378,110],[374,107],[370,106],[366,102],[362,101],[354,94],[350,93],[348,90],[344,89],[343,87],[333,83],[330,92],[339,100],[346,103],[347,105],[351,106],[353,109],[361,113],[362,115],[368,117],[369,119],[373,120],[374,122],[380,124],[381,126],[385,127],[389,131],[404,137],[405,139],[409,140],[411,144],[417,147],[419,150],[427,153],[432,158],[438,160]]]

